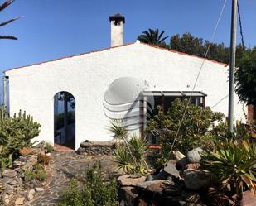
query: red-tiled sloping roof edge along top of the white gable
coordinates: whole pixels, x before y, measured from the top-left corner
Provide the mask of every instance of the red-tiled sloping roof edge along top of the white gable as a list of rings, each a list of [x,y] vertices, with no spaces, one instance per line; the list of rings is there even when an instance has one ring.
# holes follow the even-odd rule
[[[75,56],[87,55],[87,54],[91,54],[91,53],[95,53],[95,52],[100,52],[100,51],[104,51],[104,50],[112,50],[112,49],[115,49],[115,48],[118,48],[118,47],[129,46],[129,45],[133,45],[133,44],[136,44],[136,43],[137,42],[131,42],[131,43],[128,43],[128,44],[123,44],[121,46],[113,46],[113,47],[108,47],[108,48],[104,48],[104,49],[101,49],[101,50],[91,50],[89,52],[80,53],[78,55],[69,55],[69,56],[60,57],[60,58],[54,59],[54,60],[46,60],[46,61],[42,61],[42,62],[39,62],[39,63],[31,64],[31,65],[25,65],[25,66],[15,67],[15,68],[12,68],[12,69],[7,69],[7,70],[4,70],[4,72],[11,71],[11,70],[14,70],[14,69],[22,69],[22,68],[30,67],[30,66],[34,66],[34,65],[42,65],[42,64],[45,64],[45,63],[48,63],[48,62],[53,62],[53,61],[57,61],[57,60],[64,60],[64,59],[72,58],[72,57],[75,57]],[[200,60],[204,60],[203,57],[200,57],[200,56],[197,56],[197,55],[189,55],[189,54],[177,51],[177,50],[170,50],[170,49],[162,48],[160,46],[149,45],[149,44],[142,43],[142,42],[140,42],[139,44],[146,45],[146,46],[149,46],[149,47],[152,47],[152,48],[156,48],[156,49],[159,49],[159,50],[167,50],[169,52],[176,53],[176,54],[179,54],[179,55],[186,55],[186,56],[196,57],[196,58],[198,58]],[[222,63],[222,62],[219,62],[219,61],[216,61],[216,60],[208,60],[208,59],[206,59],[206,60],[210,61],[210,62],[213,62],[215,64],[227,65],[225,63]]]

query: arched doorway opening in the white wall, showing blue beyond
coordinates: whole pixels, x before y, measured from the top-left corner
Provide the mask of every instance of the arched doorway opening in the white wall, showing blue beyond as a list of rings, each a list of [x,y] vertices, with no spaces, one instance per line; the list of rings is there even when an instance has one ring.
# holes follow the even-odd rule
[[[54,96],[54,143],[75,150],[75,98],[65,91]]]

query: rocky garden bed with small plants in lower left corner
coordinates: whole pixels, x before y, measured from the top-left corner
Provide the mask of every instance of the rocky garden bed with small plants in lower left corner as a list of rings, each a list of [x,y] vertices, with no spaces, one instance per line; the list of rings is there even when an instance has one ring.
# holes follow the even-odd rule
[[[24,148],[12,167],[2,171],[0,197],[3,205],[22,205],[44,191],[49,178],[51,153],[41,147]],[[1,204],[0,204],[1,205]]]

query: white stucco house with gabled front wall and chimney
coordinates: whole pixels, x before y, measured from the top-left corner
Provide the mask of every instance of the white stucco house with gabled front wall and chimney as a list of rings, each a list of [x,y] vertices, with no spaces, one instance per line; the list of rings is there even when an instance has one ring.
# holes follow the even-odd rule
[[[70,132],[75,135],[75,149],[85,140],[110,141],[106,128],[111,118],[124,117],[131,131],[140,132],[145,127],[146,114],[152,113],[148,111],[147,99],[154,100],[151,103],[155,107],[192,94],[193,103],[227,115],[227,65],[205,60],[195,92],[191,93],[202,58],[139,41],[123,44],[124,17],[110,17],[110,22],[109,48],[5,71],[10,113],[22,109],[41,123],[36,140],[58,143],[60,133],[64,141],[67,138],[61,129],[55,129],[55,100],[60,98],[56,96],[60,92],[75,98],[75,127]],[[235,96],[234,117],[240,120],[244,114],[238,101]],[[70,106],[65,108],[66,111]],[[65,118],[67,127],[66,121]]]

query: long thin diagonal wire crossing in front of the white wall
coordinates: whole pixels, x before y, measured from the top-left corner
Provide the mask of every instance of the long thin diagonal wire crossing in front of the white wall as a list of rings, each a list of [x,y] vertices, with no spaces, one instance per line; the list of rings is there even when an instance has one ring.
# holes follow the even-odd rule
[[[218,18],[218,20],[217,20],[217,22],[216,22],[215,30],[213,31],[212,36],[211,36],[211,38],[210,38],[210,44],[209,44],[209,46],[208,46],[208,48],[207,48],[207,50],[206,50],[206,52],[205,52],[205,57],[204,57],[204,60],[202,61],[202,64],[200,65],[200,69],[199,69],[199,72],[198,72],[198,74],[197,74],[197,76],[196,76],[196,81],[195,81],[195,83],[194,83],[194,85],[193,85],[193,89],[192,89],[192,91],[191,91],[190,98],[188,99],[188,102],[186,103],[186,108],[185,108],[184,113],[183,113],[183,115],[182,115],[182,117],[181,117],[181,122],[179,123],[179,127],[178,127],[178,129],[177,129],[176,135],[175,135],[174,140],[173,140],[173,142],[172,142],[172,144],[171,144],[171,150],[170,150],[170,152],[169,152],[169,155],[171,155],[171,151],[172,151],[173,146],[174,146],[174,144],[175,144],[175,142],[176,142],[176,138],[178,137],[178,134],[179,134],[179,132],[180,132],[180,130],[181,130],[181,125],[182,125],[182,122],[184,121],[184,118],[185,118],[185,115],[186,115],[186,110],[187,110],[189,104],[191,103],[192,93],[193,93],[194,90],[196,89],[197,81],[198,81],[198,79],[199,79],[199,77],[200,77],[200,73],[201,73],[201,71],[202,71],[202,69],[203,69],[203,66],[205,65],[205,60],[206,60],[206,57],[207,57],[207,55],[208,55],[208,53],[209,53],[209,50],[210,50],[210,46],[211,46],[211,44],[212,44],[212,41],[214,40],[214,37],[215,37],[215,33],[216,33],[216,31],[217,31],[217,28],[218,28],[218,26],[219,26],[219,24],[220,24],[220,19],[221,19],[222,15],[223,15],[223,12],[224,12],[224,10],[225,10],[226,2],[227,2],[227,0],[225,0],[224,4],[223,4],[223,6],[222,6],[222,9],[221,9],[221,11],[220,11],[220,16],[219,16],[219,18]]]

